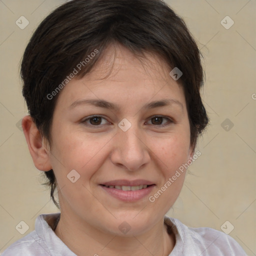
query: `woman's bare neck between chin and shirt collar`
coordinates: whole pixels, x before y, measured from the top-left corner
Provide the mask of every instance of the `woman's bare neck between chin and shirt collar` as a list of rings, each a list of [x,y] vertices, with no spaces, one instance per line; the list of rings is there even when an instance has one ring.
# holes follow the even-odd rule
[[[175,243],[174,234],[168,234],[163,219],[141,235],[123,237],[109,234],[81,220],[73,221],[61,213],[55,234],[78,256],[168,256]]]

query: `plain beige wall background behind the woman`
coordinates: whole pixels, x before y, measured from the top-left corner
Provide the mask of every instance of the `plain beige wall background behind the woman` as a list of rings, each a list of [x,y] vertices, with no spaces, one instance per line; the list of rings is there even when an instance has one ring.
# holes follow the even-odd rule
[[[22,237],[15,229],[21,220],[29,226],[26,235],[38,214],[58,211],[17,127],[26,114],[18,66],[32,31],[62,2],[0,0],[0,251]],[[211,119],[197,146],[202,154],[168,214],[189,226],[218,230],[228,220],[234,226],[229,234],[256,255],[256,0],[167,2],[203,53],[203,100]],[[15,24],[21,15],[29,20],[24,29]],[[234,21],[229,29],[220,23],[226,15]],[[221,126],[226,118],[234,124],[229,131]]]

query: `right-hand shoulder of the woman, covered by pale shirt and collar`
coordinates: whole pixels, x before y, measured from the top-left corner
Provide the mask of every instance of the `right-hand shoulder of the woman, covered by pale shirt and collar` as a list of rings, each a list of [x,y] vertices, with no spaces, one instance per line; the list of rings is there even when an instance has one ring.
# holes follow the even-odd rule
[[[208,256],[245,256],[242,247],[229,235],[210,227],[188,227],[178,219],[168,217],[168,222],[173,230],[176,242],[182,244],[183,252],[194,255],[196,253]],[[170,224],[172,223],[172,224]],[[194,254],[193,254],[194,253]]]

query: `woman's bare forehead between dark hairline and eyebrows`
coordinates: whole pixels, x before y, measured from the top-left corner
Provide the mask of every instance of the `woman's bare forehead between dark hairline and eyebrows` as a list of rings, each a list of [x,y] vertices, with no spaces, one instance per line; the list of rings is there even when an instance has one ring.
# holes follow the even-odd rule
[[[89,73],[73,78],[62,89],[57,104],[100,98],[119,105],[168,97],[184,103],[183,88],[170,77],[169,69],[155,54],[138,57],[121,45],[111,45]]]

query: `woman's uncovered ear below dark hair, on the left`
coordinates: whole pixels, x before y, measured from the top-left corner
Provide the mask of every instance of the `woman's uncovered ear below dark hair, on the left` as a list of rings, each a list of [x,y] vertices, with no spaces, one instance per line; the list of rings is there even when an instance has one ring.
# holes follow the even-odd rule
[[[43,138],[30,115],[23,117],[22,129],[26,138],[29,152],[34,162],[34,166],[38,170],[50,170],[52,167],[50,164],[48,150],[44,146]]]

